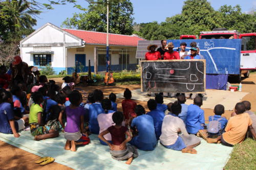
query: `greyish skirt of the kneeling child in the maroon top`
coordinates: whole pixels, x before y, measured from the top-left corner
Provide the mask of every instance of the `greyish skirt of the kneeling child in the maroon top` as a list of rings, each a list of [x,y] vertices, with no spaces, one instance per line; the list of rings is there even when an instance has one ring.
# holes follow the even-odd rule
[[[139,155],[136,148],[130,144],[126,145],[126,150],[122,150],[122,151],[110,150],[110,154],[113,159],[118,160],[118,161],[126,160],[131,157],[137,158]]]

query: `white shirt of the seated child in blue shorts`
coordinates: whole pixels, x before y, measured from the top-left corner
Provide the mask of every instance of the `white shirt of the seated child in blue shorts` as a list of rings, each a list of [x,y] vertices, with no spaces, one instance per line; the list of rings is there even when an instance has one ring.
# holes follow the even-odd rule
[[[164,116],[160,136],[161,143],[163,145],[174,144],[178,139],[178,132],[182,132],[184,136],[189,136],[182,119],[169,114]]]

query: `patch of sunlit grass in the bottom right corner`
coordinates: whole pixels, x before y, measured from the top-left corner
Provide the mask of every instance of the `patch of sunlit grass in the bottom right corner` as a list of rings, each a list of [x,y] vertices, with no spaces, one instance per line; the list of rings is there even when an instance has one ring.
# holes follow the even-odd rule
[[[256,169],[256,142],[247,138],[241,144],[236,144],[230,155],[225,170]]]

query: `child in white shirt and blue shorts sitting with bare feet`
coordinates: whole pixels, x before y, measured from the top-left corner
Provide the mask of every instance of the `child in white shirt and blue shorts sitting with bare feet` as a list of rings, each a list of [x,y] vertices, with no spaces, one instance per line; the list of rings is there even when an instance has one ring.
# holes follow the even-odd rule
[[[172,105],[172,113],[164,116],[160,142],[167,149],[197,154],[194,147],[200,144],[200,139],[187,133],[183,120],[178,117],[180,112],[181,105],[176,101]]]

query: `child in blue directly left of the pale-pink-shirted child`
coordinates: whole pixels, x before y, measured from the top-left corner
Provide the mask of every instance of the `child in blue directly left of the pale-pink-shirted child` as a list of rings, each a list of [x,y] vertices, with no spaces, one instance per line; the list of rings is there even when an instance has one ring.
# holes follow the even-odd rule
[[[99,134],[99,123],[97,117],[104,110],[101,106],[101,101],[103,100],[103,92],[99,89],[93,91],[93,98],[95,103],[89,107],[89,130],[93,134]]]

